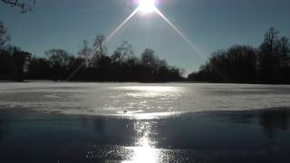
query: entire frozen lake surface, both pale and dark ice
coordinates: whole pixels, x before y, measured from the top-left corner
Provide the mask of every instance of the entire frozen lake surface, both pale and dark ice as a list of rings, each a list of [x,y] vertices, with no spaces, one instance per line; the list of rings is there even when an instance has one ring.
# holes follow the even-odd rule
[[[0,83],[0,162],[288,163],[289,96],[283,85]]]

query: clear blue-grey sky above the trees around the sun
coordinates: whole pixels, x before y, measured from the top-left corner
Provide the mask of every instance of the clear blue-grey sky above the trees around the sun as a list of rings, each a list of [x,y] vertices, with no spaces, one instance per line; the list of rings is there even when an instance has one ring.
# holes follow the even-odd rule
[[[82,40],[109,35],[137,7],[131,0],[36,0],[34,13],[0,2],[11,43],[43,56],[51,48],[77,53]],[[170,64],[198,70],[213,51],[234,44],[258,46],[274,26],[290,36],[289,0],[160,0],[161,12],[195,44],[193,51],[158,14],[136,14],[108,43],[109,53],[128,41],[137,56],[147,47]],[[202,57],[200,55],[203,55]]]

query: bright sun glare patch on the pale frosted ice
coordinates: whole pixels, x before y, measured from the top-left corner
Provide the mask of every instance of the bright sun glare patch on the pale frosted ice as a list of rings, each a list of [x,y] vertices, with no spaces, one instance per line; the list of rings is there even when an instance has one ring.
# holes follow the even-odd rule
[[[138,120],[179,113],[172,103],[180,101],[185,91],[183,87],[167,85],[125,85],[112,87],[111,90],[121,93],[111,96],[114,102],[108,103],[107,108],[115,108],[118,115]]]

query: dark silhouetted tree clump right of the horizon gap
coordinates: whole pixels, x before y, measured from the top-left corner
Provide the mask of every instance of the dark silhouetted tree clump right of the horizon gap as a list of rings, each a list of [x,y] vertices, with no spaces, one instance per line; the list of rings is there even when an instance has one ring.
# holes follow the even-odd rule
[[[279,37],[271,27],[259,47],[234,45],[212,53],[198,72],[189,74],[195,82],[290,83],[289,38]]]

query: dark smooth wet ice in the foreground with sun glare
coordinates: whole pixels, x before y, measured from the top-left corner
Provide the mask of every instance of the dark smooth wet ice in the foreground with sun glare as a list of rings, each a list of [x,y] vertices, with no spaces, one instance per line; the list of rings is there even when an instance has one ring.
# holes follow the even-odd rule
[[[290,110],[0,120],[0,162],[285,162]]]

